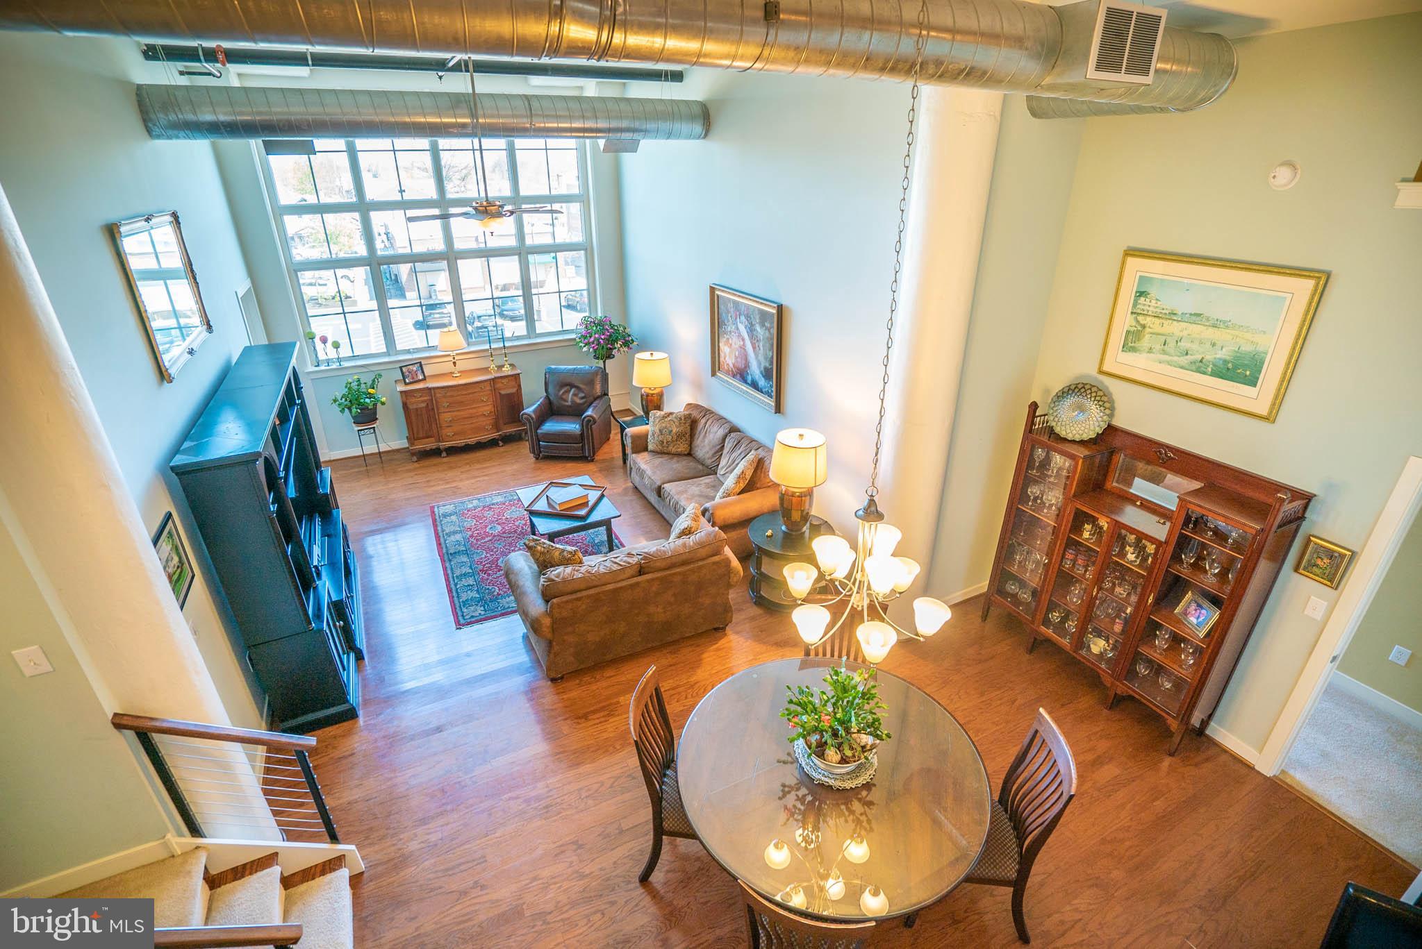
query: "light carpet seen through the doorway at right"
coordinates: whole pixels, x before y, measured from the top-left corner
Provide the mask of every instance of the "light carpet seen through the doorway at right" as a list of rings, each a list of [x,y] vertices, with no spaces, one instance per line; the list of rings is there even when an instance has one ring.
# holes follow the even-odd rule
[[[1278,776],[1422,865],[1422,730],[1330,683]]]

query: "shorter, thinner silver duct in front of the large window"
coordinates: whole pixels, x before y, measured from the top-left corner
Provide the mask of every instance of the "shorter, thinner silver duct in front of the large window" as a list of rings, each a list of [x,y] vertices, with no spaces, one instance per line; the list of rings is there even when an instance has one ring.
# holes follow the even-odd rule
[[[148,135],[185,138],[444,138],[471,135],[469,95],[233,85],[139,85]],[[705,138],[694,99],[479,94],[479,131],[491,138]]]

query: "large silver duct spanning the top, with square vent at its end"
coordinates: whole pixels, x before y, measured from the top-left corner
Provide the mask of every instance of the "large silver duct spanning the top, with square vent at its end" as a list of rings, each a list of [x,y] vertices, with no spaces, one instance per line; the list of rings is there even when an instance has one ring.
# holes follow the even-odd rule
[[[1186,111],[1234,77],[1224,37],[1166,27],[1148,85],[1088,80],[1098,3],[929,0],[923,80]],[[0,27],[381,53],[906,80],[917,0],[0,0]]]

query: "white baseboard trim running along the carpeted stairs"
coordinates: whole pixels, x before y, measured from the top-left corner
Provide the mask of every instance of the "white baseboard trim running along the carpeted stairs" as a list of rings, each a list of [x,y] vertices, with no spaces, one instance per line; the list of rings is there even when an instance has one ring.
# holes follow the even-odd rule
[[[337,855],[346,857],[346,868],[351,877],[365,869],[365,861],[361,859],[360,851],[353,844],[292,844],[169,835],[21,884],[14,889],[0,894],[0,899],[54,896],[92,884],[95,879],[104,879],[105,877],[142,867],[144,864],[186,854],[189,850],[198,847],[208,848],[208,869],[212,872],[222,872],[229,867],[245,864],[257,857],[266,857],[270,852],[277,854],[277,864],[282,867],[283,874],[294,874],[299,869],[306,869]]]

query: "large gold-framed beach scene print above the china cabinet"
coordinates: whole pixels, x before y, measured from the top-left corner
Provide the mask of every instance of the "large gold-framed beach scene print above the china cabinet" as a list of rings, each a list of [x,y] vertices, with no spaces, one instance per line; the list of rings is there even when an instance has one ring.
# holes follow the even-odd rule
[[[1273,422],[1328,273],[1128,250],[1101,371]]]

